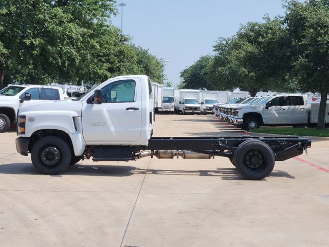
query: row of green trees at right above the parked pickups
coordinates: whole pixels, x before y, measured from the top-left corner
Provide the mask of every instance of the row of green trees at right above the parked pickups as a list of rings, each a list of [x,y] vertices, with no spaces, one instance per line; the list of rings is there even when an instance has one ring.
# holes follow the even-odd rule
[[[220,38],[214,56],[200,69],[203,57],[181,72],[194,88],[232,90],[255,96],[259,91],[321,94],[318,128],[324,128],[329,93],[329,0],[286,0],[285,16],[249,22],[228,38]],[[209,85],[210,84],[210,85]]]

